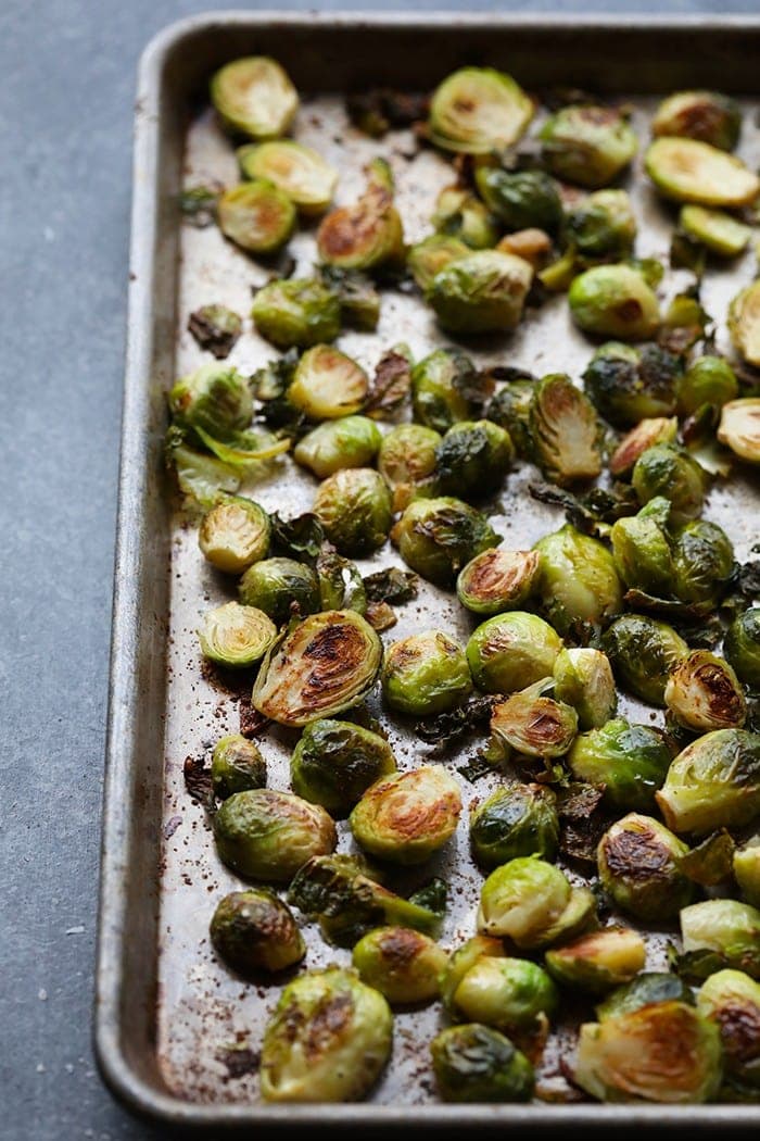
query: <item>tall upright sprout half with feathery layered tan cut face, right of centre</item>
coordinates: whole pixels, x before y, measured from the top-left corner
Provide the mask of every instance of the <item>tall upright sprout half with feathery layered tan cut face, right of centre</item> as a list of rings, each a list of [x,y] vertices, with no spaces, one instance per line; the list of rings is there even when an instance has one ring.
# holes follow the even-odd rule
[[[602,471],[594,405],[564,373],[544,377],[533,389],[530,429],[533,458],[553,483],[567,487]]]

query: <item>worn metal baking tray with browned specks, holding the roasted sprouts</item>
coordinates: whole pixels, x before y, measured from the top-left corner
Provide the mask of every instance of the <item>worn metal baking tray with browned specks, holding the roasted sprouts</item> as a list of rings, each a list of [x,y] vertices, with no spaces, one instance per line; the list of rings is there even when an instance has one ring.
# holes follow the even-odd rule
[[[654,21],[469,16],[453,13],[404,15],[283,16],[218,13],[174,24],[146,49],[136,107],[134,186],[130,273],[129,347],[124,390],[119,537],[111,663],[96,1042],[103,1075],[134,1110],[179,1125],[330,1127],[598,1127],[636,1124],[694,1128],[750,1127],[758,1111],[747,1106],[600,1106],[536,1102],[530,1106],[447,1106],[435,1099],[427,1043],[439,1009],[395,1018],[394,1055],[368,1103],[264,1106],[255,1067],[230,1069],[230,1051],[255,1052],[279,987],[246,986],[216,963],[207,924],[216,900],[238,881],[218,860],[202,809],[187,795],[186,756],[199,756],[224,731],[235,731],[235,696],[202,675],[195,628],[199,614],[223,600],[224,586],[199,557],[195,529],[183,524],[163,469],[165,393],[175,375],[204,356],[186,332],[188,314],[220,301],[247,314],[251,286],[265,270],[232,249],[215,227],[183,225],[182,186],[236,177],[232,147],[207,105],[209,75],[237,56],[276,56],[304,96],[296,137],[314,144],[341,169],[338,201],[361,185],[361,168],[374,154],[391,161],[407,235],[426,232],[438,189],[450,168],[411,136],[394,132],[370,140],[348,126],[344,95],[373,86],[430,90],[465,63],[513,73],[529,90],[556,84],[630,97],[635,123],[645,137],[643,113],[657,95],[680,87],[714,87],[745,100],[742,153],[760,165],[760,19]],[[640,171],[640,156],[637,171]],[[640,254],[664,256],[669,224],[653,194],[636,180]],[[300,269],[313,257],[313,230],[292,245]],[[708,277],[704,302],[722,316],[730,296],[753,276],[752,256]],[[669,277],[676,292],[678,275]],[[406,340],[420,357],[448,343],[430,310],[414,297],[389,293],[375,334],[351,333],[341,346],[371,366],[382,350]],[[725,347],[725,329],[719,345]],[[467,346],[471,351],[471,346]],[[230,363],[251,371],[273,350],[246,326]],[[542,308],[508,339],[489,339],[473,355],[482,362],[523,365],[534,372],[578,375],[590,346],[570,324],[563,300]],[[255,488],[265,507],[289,513],[308,510],[313,482],[294,471]],[[532,543],[564,521],[557,509],[534,503],[525,491],[530,474],[513,474],[501,496],[497,529],[513,545]],[[744,558],[758,519],[754,488],[732,483],[710,496],[708,517],[719,520]],[[387,547],[376,565],[398,563]],[[461,609],[423,584],[417,602],[400,608],[386,636],[404,637],[422,625],[472,629]],[[630,703],[627,706],[630,710]],[[639,711],[640,712],[640,711]],[[646,711],[655,720],[659,714]],[[414,736],[394,728],[401,767],[430,753]],[[270,783],[287,787],[293,741],[269,734],[262,747]],[[471,742],[443,763],[461,764]],[[436,754],[430,753],[431,756]],[[440,755],[438,759],[441,759]],[[453,762],[453,763],[451,763]],[[465,804],[482,798],[488,778],[463,779]],[[456,946],[474,931],[482,876],[467,851],[466,812],[448,855],[433,871],[450,881],[451,906],[442,942]],[[341,848],[348,845],[342,828]],[[430,874],[430,868],[426,869]],[[326,947],[314,929],[307,964],[346,962],[349,953]],[[647,965],[663,962],[663,940],[652,938]],[[558,1055],[570,1044],[562,1028],[553,1036],[540,1073],[548,1097],[562,1095]],[[236,1057],[240,1057],[239,1053]],[[246,1068],[243,1067],[243,1070]]]

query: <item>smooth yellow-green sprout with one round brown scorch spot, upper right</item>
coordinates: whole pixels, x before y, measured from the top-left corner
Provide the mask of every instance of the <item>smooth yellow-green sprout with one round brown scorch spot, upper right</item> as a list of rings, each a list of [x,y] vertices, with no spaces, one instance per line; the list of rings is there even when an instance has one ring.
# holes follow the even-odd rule
[[[573,280],[570,314],[585,333],[645,341],[660,326],[660,306],[641,274],[623,262],[594,266]]]

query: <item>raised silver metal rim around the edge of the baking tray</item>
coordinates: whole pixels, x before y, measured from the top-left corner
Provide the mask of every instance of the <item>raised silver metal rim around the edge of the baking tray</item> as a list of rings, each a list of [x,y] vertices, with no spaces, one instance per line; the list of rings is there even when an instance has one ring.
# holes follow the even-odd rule
[[[104,817],[100,861],[100,896],[96,963],[93,1042],[100,1074],[109,1090],[131,1110],[167,1124],[236,1128],[261,1125],[287,1128],[294,1125],[352,1127],[402,1126],[411,1124],[408,1107],[371,1103],[350,1104],[199,1104],[162,1092],[140,1077],[122,1049],[120,1005],[123,986],[122,942],[125,934],[125,876],[130,857],[131,780],[129,744],[138,710],[136,664],[139,644],[139,583],[145,566],[141,510],[148,485],[145,464],[149,414],[147,380],[153,354],[154,251],[157,236],[156,180],[160,161],[161,82],[170,55],[204,31],[269,24],[285,29],[318,26],[360,29],[419,29],[424,31],[456,23],[459,27],[549,32],[627,30],[683,32],[690,27],[709,33],[760,31],[760,16],[671,16],[571,14],[495,14],[463,11],[350,13],[308,11],[258,13],[230,10],[202,13],[177,21],[160,31],[145,48],[138,68],[134,118],[133,197],[131,210],[130,289],[126,365],[122,412],[119,515],[114,566],[114,604],[109,664],[109,702],[105,753]],[[481,1127],[517,1126],[545,1130],[555,1126],[587,1128],[661,1126],[673,1130],[696,1127],[757,1127],[758,1108],[743,1104],[435,1104],[414,1118],[418,1128],[446,1125]]]

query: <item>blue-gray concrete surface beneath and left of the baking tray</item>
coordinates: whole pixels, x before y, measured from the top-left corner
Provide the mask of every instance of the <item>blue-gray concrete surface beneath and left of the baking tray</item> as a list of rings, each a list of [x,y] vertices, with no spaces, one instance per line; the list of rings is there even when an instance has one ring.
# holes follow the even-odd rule
[[[397,6],[410,7],[316,5]],[[0,5],[6,1141],[164,1135],[134,1122],[101,1085],[90,1018],[134,68],[154,32],[203,7],[190,0]],[[530,8],[750,13],[758,3],[533,0]]]

